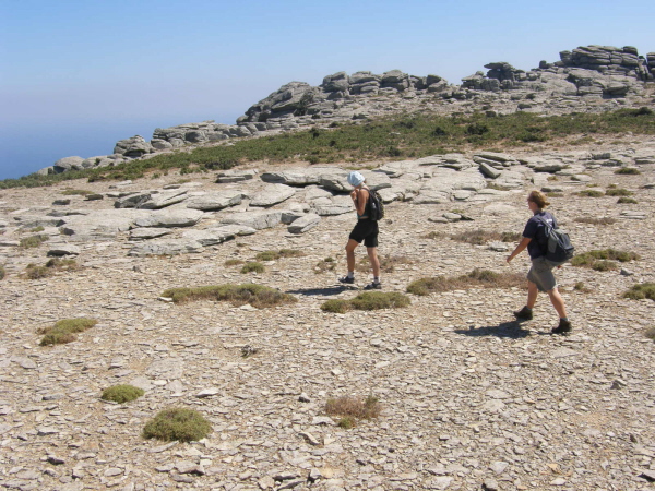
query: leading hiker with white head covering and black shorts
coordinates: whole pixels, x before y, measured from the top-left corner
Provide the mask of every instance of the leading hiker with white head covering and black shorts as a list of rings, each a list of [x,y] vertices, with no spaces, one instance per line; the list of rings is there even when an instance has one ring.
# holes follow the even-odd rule
[[[357,209],[357,225],[353,228],[346,243],[346,260],[348,263],[348,274],[338,278],[341,283],[355,283],[355,249],[364,241],[366,251],[373,270],[373,282],[365,287],[365,289],[381,289],[380,282],[380,260],[378,259],[378,221],[370,219],[370,190],[365,183],[365,178],[356,170],[348,175],[348,183],[355,189],[350,192],[350,199]]]

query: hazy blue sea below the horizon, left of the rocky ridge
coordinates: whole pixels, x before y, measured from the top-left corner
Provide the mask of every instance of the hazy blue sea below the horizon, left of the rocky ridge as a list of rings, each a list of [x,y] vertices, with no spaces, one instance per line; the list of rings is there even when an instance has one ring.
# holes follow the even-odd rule
[[[109,155],[119,140],[140,134],[151,140],[155,128],[215,119],[235,124],[237,116],[139,121],[73,121],[29,124],[0,123],[0,180],[16,179],[51,166],[63,157],[82,158]]]

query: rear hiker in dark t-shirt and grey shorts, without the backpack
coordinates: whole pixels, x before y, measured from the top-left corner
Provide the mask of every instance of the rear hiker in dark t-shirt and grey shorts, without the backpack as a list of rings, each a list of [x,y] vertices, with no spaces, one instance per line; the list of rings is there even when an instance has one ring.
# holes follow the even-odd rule
[[[520,321],[531,320],[538,292],[546,291],[550,298],[550,303],[552,303],[560,318],[559,325],[553,327],[551,333],[565,335],[571,332],[571,322],[567,316],[567,307],[557,289],[557,280],[552,274],[552,270],[560,266],[546,259],[546,227],[557,228],[555,217],[544,211],[549,204],[546,195],[540,191],[532,191],[528,194],[527,207],[533,213],[533,216],[525,224],[523,238],[519,242],[519,246],[516,246],[516,249],[508,255],[507,262],[512,261],[527,248],[532,261],[532,267],[527,272],[527,302],[523,309],[514,312],[514,316]]]

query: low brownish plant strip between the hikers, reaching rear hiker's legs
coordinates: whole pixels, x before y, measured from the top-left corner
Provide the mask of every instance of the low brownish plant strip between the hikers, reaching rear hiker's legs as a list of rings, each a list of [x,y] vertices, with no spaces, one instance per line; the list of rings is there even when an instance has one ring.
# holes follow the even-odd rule
[[[417,279],[407,286],[407,292],[425,296],[467,288],[513,288],[524,286],[525,275],[523,274],[496,273],[476,267],[471,273],[462,276],[434,276]]]

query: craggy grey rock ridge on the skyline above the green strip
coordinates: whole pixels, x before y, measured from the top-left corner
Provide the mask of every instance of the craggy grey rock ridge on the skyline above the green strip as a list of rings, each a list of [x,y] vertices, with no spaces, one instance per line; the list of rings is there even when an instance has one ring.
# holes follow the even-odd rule
[[[557,62],[541,61],[529,71],[507,62],[485,65],[451,85],[439,75],[416,76],[400,70],[383,74],[338,72],[319,86],[290,82],[251,106],[236,124],[214,121],[157,128],[150,141],[140,135],[117,142],[114,154],[91,158],[66,157],[38,171],[116,166],[175,149],[221,144],[344,121],[366,120],[391,112],[471,113],[483,107],[489,115],[532,111],[561,115],[652,105],[645,86],[655,79],[655,52],[640,56],[634,47],[587,46],[560,52]]]

